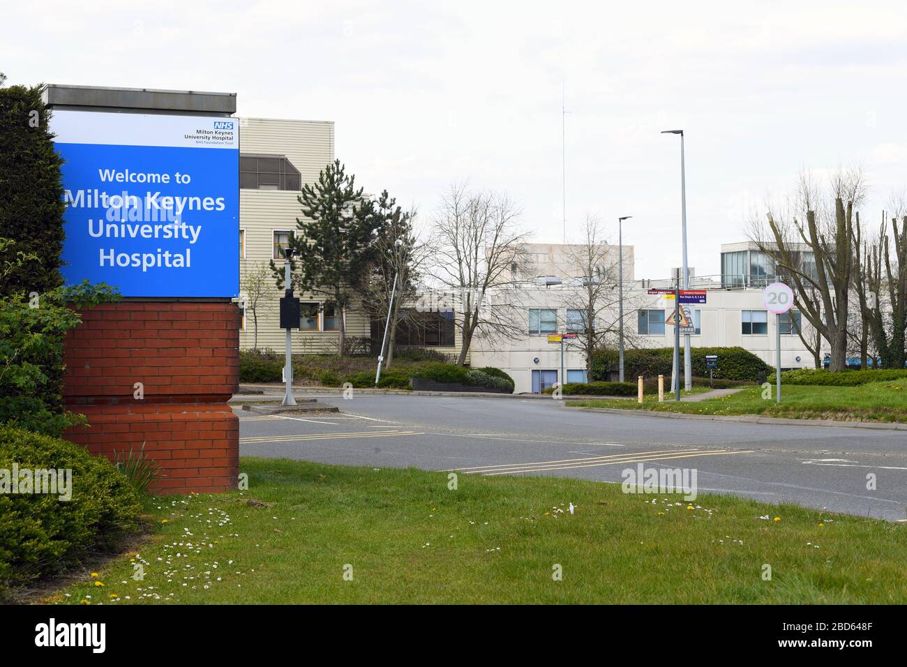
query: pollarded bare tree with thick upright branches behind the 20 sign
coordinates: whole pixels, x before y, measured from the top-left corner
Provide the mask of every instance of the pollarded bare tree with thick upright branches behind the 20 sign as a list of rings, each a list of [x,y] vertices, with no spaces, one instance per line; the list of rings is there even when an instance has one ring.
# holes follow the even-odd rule
[[[857,208],[865,187],[861,170],[839,170],[831,181],[831,197],[826,198],[810,176],[803,174],[795,211],[769,210],[767,228],[754,221],[749,232],[759,250],[775,261],[775,272],[791,283],[795,307],[828,340],[829,368],[834,371],[847,366],[854,230],[860,226]],[[832,199],[834,205],[824,207],[826,199]],[[805,260],[805,253],[810,261]]]

